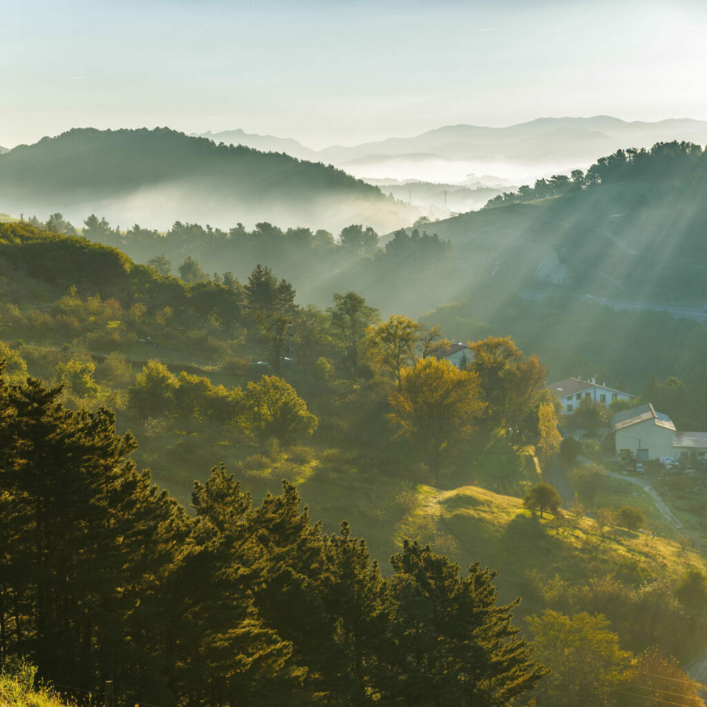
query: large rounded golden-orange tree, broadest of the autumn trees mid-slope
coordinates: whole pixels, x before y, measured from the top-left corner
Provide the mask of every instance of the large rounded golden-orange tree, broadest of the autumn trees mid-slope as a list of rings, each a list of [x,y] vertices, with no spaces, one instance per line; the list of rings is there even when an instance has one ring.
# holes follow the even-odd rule
[[[434,357],[401,370],[390,403],[390,420],[398,434],[425,449],[436,481],[445,452],[472,434],[474,420],[484,410],[476,374]]]

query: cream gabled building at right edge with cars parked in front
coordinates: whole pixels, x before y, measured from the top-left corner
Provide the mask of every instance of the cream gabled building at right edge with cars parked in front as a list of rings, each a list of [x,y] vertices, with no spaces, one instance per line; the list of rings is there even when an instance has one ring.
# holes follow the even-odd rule
[[[672,420],[650,403],[614,415],[612,429],[620,461],[707,458],[707,432],[678,432]]]

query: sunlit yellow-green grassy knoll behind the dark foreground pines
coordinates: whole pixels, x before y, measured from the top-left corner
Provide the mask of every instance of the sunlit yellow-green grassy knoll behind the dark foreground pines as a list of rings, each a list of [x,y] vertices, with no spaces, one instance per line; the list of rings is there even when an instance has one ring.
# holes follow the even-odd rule
[[[648,575],[678,577],[703,558],[677,542],[614,528],[602,537],[597,523],[565,512],[563,517],[532,515],[518,498],[477,486],[440,492],[416,488],[416,502],[396,527],[398,539],[430,543],[460,565],[477,560],[499,570],[497,585],[506,600],[521,592],[534,572],[583,582],[636,561]],[[532,604],[532,597],[530,599]]]

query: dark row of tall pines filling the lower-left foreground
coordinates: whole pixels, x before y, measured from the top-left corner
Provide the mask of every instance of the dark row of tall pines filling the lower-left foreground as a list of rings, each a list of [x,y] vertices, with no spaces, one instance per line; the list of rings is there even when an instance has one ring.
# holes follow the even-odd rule
[[[405,541],[382,576],[284,483],[254,505],[226,469],[194,516],[129,461],[105,408],[0,381],[0,658],[45,680],[184,705],[505,705],[544,674],[468,574]]]

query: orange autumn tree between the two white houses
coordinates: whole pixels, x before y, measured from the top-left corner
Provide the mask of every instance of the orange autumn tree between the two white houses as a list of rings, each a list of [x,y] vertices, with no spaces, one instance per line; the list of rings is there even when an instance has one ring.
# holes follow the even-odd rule
[[[525,357],[510,336],[489,336],[469,343],[469,348],[473,354],[469,367],[479,376],[489,426],[518,430],[539,400],[544,366],[537,356]]]

